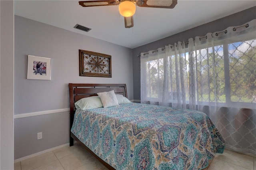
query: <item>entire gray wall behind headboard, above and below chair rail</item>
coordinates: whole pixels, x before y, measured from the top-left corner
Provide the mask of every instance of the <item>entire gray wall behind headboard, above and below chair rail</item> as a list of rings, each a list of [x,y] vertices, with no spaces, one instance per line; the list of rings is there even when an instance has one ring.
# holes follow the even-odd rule
[[[14,21],[14,118],[69,108],[68,83],[126,83],[133,99],[132,49],[20,16]],[[112,78],[80,77],[79,49],[111,55]],[[52,59],[51,80],[26,79],[28,55]],[[14,158],[66,144],[68,134],[68,111],[14,119]]]

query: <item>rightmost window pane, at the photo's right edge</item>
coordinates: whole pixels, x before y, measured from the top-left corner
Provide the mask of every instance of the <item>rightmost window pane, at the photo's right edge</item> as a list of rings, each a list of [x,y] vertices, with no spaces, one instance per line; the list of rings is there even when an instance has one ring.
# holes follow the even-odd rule
[[[256,103],[256,40],[228,44],[230,101]]]

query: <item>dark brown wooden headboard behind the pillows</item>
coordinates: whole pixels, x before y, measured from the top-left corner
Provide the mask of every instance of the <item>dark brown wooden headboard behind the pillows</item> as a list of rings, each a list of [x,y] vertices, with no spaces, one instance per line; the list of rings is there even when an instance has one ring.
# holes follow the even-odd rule
[[[69,83],[70,116],[74,117],[76,101],[84,97],[97,96],[97,93],[114,90],[127,98],[126,84],[73,84]]]

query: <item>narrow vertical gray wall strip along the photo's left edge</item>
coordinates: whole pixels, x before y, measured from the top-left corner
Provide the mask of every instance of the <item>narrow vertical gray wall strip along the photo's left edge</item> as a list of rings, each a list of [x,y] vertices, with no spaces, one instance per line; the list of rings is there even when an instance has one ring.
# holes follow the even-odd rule
[[[0,169],[14,169],[14,5],[0,1]]]

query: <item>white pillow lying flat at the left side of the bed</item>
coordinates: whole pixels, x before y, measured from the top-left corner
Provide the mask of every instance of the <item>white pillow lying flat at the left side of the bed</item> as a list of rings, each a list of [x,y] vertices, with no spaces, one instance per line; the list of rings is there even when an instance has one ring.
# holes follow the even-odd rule
[[[102,105],[100,97],[92,96],[92,97],[85,97],[85,98],[78,100],[75,103],[75,107],[76,107],[76,109],[86,110],[86,109],[94,109],[94,108],[103,107],[103,105]]]

